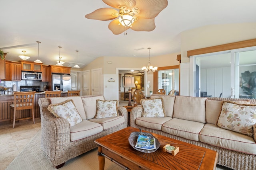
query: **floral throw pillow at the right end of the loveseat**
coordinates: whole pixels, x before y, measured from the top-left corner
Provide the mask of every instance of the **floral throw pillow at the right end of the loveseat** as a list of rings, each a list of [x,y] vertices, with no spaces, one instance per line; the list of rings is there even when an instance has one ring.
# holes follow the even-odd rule
[[[96,100],[96,115],[94,118],[106,118],[118,116],[118,100]]]

